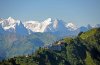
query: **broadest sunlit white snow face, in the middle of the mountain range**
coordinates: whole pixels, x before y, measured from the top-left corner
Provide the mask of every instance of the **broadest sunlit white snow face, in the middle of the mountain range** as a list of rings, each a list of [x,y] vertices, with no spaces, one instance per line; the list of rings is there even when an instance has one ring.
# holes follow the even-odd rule
[[[27,21],[24,23],[24,25],[27,29],[30,29],[33,32],[46,32],[46,28],[48,28],[51,23],[51,18],[48,18],[43,22]]]

